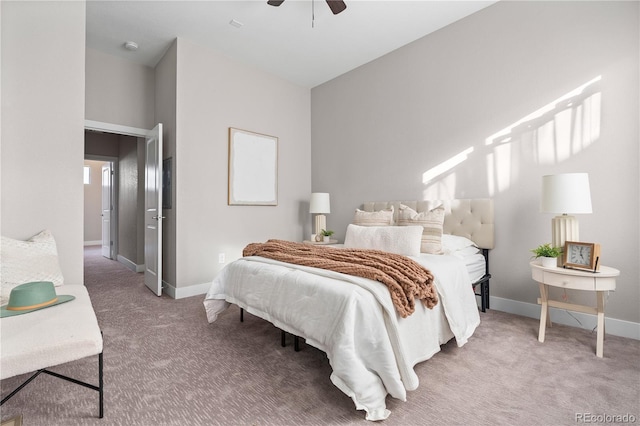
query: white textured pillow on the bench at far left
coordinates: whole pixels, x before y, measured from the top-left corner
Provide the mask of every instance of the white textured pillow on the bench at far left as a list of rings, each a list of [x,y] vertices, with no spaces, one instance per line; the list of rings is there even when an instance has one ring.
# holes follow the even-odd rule
[[[0,304],[9,301],[11,289],[32,281],[64,283],[58,249],[51,232],[44,230],[27,241],[2,237],[0,241]]]

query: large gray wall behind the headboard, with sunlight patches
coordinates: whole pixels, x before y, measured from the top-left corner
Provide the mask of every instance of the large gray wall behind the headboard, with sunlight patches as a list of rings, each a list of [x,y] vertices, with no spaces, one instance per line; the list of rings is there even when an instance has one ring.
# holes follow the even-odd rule
[[[328,227],[344,238],[363,201],[492,197],[492,296],[535,304],[529,249],[551,240],[553,216],[539,212],[541,176],[588,172],[580,239],[622,271],[607,316],[640,322],[638,16],[637,2],[499,2],[312,89]]]

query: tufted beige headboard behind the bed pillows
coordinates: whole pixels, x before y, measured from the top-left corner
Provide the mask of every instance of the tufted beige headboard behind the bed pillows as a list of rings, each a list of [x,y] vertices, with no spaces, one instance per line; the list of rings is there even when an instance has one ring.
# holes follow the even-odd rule
[[[469,238],[478,247],[492,249],[495,246],[493,200],[490,198],[426,201],[376,201],[363,204],[367,212],[394,208],[397,223],[400,204],[418,213],[429,211],[442,204],[445,208],[444,233]]]

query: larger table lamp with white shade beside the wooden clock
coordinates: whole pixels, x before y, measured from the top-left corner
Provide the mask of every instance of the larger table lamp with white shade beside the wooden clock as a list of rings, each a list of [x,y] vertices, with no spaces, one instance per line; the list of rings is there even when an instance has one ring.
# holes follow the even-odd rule
[[[588,173],[562,173],[542,177],[540,211],[559,213],[551,220],[551,245],[564,248],[566,241],[580,241],[578,219],[571,214],[591,213]]]

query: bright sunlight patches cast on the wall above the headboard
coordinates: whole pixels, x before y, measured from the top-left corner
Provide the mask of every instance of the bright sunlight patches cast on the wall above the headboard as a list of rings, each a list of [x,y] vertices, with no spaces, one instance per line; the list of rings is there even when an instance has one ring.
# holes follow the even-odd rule
[[[424,172],[424,199],[454,198],[455,168],[484,155],[490,196],[510,188],[521,161],[553,165],[568,160],[600,137],[601,92],[597,76]],[[520,156],[520,157],[518,157]]]

